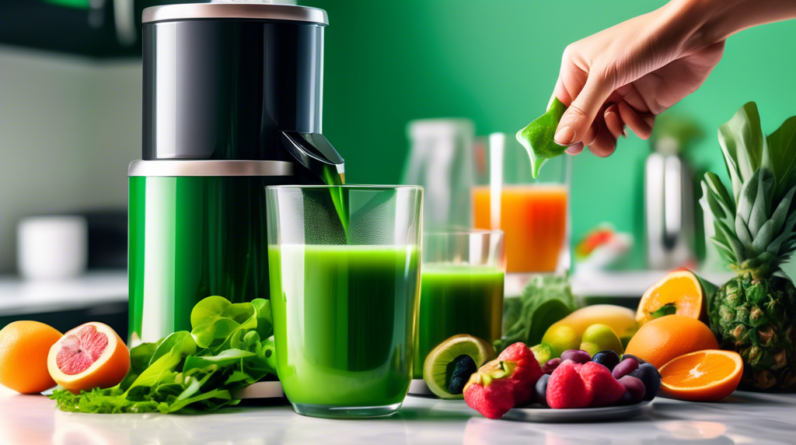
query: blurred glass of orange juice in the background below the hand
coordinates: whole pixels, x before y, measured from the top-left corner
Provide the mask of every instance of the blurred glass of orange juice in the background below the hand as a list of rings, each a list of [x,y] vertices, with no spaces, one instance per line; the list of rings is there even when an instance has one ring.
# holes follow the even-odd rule
[[[549,160],[531,175],[528,153],[513,135],[489,135],[488,183],[473,187],[473,222],[503,230],[507,273],[569,268],[569,156]],[[478,161],[478,160],[477,160]]]

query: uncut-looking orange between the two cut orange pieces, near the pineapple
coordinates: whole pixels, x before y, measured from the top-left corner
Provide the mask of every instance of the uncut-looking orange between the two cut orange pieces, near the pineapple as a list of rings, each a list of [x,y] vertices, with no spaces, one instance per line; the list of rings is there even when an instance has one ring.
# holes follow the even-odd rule
[[[683,315],[666,315],[639,328],[625,353],[660,368],[675,357],[705,349],[719,349],[716,336],[705,323]]]

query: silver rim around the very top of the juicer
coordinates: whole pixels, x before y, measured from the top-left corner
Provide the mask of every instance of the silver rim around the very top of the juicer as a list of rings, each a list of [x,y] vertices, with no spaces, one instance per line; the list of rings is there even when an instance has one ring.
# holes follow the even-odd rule
[[[166,20],[193,19],[255,19],[309,22],[326,26],[326,11],[305,6],[235,3],[184,3],[150,6],[144,9],[144,24]]]

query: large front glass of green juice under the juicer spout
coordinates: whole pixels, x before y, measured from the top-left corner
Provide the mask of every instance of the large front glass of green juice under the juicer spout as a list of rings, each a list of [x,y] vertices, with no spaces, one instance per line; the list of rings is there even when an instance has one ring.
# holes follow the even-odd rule
[[[423,189],[266,188],[277,374],[313,417],[390,415],[409,389]]]

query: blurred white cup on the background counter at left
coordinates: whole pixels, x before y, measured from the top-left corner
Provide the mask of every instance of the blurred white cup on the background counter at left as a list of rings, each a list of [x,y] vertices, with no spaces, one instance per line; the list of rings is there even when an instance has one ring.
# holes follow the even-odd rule
[[[17,225],[17,264],[29,280],[78,276],[88,262],[88,223],[82,216],[41,216]]]

